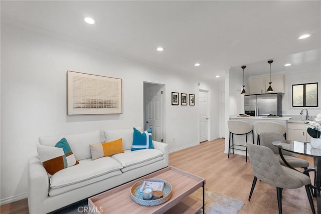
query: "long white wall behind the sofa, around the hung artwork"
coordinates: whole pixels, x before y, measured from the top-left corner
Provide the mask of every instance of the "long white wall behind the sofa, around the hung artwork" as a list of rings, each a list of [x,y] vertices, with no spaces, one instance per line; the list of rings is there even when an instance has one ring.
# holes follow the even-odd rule
[[[38,33],[1,26],[1,203],[26,197],[27,162],[39,136],[143,126],[143,81],[166,85],[170,150],[198,143],[198,107],[172,106],[171,92],[210,91],[210,137],[218,138],[218,84]],[[67,70],[121,78],[123,113],[66,113]],[[171,139],[175,138],[173,143]]]

